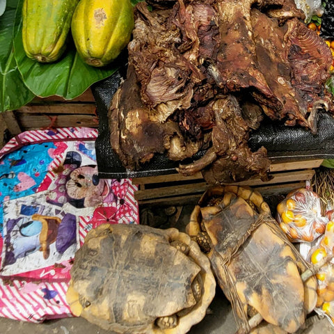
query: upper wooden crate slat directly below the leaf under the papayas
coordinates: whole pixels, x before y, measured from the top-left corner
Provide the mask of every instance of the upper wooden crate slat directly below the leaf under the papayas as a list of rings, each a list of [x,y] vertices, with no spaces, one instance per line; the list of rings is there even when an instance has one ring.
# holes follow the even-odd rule
[[[16,113],[19,117],[19,113],[34,113],[34,117],[38,118],[38,114],[43,115],[45,113],[70,113],[70,114],[88,114],[95,115],[96,106],[93,103],[77,103],[77,104],[42,104],[42,105],[26,105],[17,109]]]

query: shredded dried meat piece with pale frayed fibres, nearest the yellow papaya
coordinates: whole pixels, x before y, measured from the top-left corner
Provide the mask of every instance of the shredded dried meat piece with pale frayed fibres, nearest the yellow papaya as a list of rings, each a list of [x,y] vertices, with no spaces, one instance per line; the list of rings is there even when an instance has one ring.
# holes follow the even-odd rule
[[[128,46],[141,98],[159,122],[177,109],[190,107],[193,85],[202,77],[198,68],[177,51],[180,33],[170,22],[170,15],[170,9],[150,12],[146,3],[138,3],[134,38]]]

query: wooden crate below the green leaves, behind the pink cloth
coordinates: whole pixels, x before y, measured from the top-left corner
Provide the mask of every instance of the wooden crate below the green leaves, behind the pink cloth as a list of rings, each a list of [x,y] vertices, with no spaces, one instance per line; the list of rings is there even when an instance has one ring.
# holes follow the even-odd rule
[[[47,127],[97,127],[95,100],[88,88],[73,100],[51,96],[35,97],[32,102],[15,111],[1,113],[12,136],[32,129]]]

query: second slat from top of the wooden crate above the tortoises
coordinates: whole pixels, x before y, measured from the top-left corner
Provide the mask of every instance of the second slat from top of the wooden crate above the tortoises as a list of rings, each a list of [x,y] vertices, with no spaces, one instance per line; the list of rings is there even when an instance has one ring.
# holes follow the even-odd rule
[[[287,182],[297,182],[301,180],[311,180],[315,175],[315,170],[296,170],[292,172],[276,173],[269,181],[262,181],[259,178],[250,179],[234,184],[240,186],[264,186],[267,184],[278,184]],[[134,182],[135,183],[135,182]],[[170,196],[180,196],[184,194],[203,193],[209,188],[205,182],[195,184],[179,184],[176,186],[159,186],[155,189],[138,190],[134,194],[136,200],[148,200],[149,198],[164,198]]]

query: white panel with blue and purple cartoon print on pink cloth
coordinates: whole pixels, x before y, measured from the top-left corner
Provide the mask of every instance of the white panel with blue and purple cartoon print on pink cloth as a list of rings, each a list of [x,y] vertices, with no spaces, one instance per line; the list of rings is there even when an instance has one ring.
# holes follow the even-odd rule
[[[41,198],[39,199],[41,202]],[[11,208],[8,207],[8,209]],[[50,256],[57,260],[61,259],[65,251],[77,243],[77,218],[73,214],[60,212],[55,215],[56,212],[54,212],[52,215],[52,211],[46,205],[35,204],[22,204],[18,218],[6,221],[6,214],[2,262],[4,272],[6,272],[6,266],[15,264],[18,259],[22,259],[22,262],[33,259],[35,267],[45,267],[45,260]],[[52,244],[54,246],[51,246]],[[29,257],[36,252],[40,255]],[[70,253],[69,256],[72,255],[74,253]],[[69,256],[66,255],[63,260]],[[16,273],[19,270],[12,268],[10,273]]]

